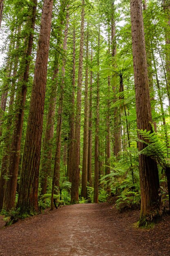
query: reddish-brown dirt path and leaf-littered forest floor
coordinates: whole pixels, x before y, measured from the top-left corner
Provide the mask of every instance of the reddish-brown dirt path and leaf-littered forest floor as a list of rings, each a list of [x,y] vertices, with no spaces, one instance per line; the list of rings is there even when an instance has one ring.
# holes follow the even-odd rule
[[[74,204],[3,228],[0,256],[169,256],[170,216],[139,229],[139,211],[119,213],[110,204]]]

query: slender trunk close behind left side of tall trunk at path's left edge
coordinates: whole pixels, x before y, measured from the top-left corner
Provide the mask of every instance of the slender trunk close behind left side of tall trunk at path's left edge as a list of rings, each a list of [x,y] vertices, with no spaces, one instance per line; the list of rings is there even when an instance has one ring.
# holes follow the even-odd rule
[[[69,181],[72,180],[73,169],[73,150],[74,150],[74,132],[75,132],[75,28],[73,29],[73,71],[72,71],[72,97],[71,97],[71,115],[70,115],[70,134],[68,146],[68,163],[67,163],[67,177]]]

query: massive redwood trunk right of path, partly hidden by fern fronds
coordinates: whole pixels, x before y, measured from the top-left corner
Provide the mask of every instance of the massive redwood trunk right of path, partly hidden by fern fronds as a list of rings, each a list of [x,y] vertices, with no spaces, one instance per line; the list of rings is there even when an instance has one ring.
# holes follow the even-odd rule
[[[135,77],[137,128],[152,130],[149,80],[144,38],[144,22],[141,0],[130,0],[130,14],[132,24],[132,51]],[[138,134],[138,138],[141,136]],[[145,145],[138,142],[139,150]],[[141,184],[141,214],[139,225],[145,225],[151,220],[152,211],[159,213],[159,175],[156,162],[150,157],[139,155],[139,174]]]

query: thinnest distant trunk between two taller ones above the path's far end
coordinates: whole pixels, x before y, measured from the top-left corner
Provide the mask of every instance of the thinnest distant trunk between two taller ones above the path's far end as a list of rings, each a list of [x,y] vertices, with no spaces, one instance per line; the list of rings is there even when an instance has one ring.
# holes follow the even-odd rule
[[[91,66],[93,64],[93,45],[91,43]],[[89,92],[89,124],[88,124],[88,164],[87,164],[87,182],[92,186],[91,180],[91,157],[92,157],[92,91],[93,91],[93,71],[91,71],[90,92]]]

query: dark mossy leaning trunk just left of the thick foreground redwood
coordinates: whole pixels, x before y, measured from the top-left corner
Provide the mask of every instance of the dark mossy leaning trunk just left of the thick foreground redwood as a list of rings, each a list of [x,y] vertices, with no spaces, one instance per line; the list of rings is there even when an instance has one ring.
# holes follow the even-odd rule
[[[9,180],[6,184],[6,191],[4,197],[3,209],[7,211],[15,207],[15,194],[17,188],[17,177],[18,177],[18,167],[20,162],[20,147],[21,147],[21,137],[22,137],[22,126],[24,120],[24,106],[26,102],[26,89],[29,79],[29,66],[30,66],[30,56],[32,52],[33,45],[33,31],[35,27],[35,18],[36,18],[36,6],[37,0],[33,0],[33,9],[31,22],[29,24],[30,34],[27,41],[26,56],[21,62],[21,66],[24,69],[24,73],[18,82],[18,85],[21,85],[21,89],[18,88],[17,102],[15,112],[15,121],[14,121],[14,132],[12,137],[11,150],[9,154]]]

